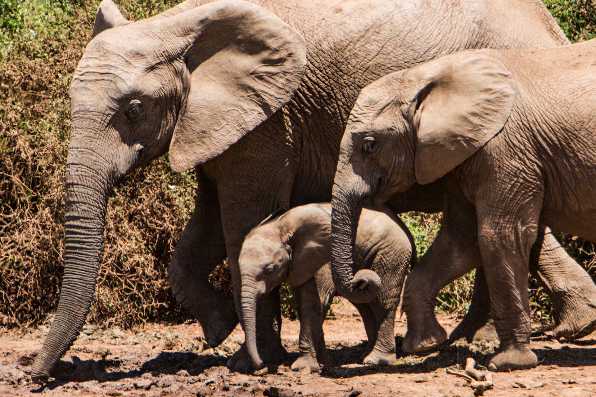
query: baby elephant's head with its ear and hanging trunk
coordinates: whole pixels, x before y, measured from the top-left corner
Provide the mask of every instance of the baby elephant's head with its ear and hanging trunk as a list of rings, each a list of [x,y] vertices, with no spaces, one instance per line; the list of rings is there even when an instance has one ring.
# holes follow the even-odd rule
[[[254,369],[263,367],[256,346],[259,298],[287,277],[297,287],[330,259],[331,212],[303,205],[255,227],[244,239],[238,265],[242,280],[242,317],[246,347]]]

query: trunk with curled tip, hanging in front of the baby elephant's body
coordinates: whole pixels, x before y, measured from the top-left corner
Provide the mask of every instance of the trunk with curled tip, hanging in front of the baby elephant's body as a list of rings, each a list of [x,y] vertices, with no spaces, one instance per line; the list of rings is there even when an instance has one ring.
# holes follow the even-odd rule
[[[343,170],[342,170],[343,169]],[[346,177],[346,167],[336,174],[331,199],[331,274],[337,292],[353,303],[372,301],[381,287],[381,279],[372,270],[353,274],[353,247],[362,210],[362,196],[368,188],[352,174]]]

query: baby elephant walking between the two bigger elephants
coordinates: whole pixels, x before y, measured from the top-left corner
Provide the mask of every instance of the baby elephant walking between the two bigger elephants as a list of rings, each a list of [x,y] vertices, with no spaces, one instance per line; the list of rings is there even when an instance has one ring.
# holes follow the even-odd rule
[[[255,336],[257,301],[286,278],[300,320],[300,357],[292,364],[292,370],[308,368],[315,372],[330,364],[322,329],[335,293],[330,255],[330,203],[293,208],[280,217],[268,218],[246,236],[239,259],[242,314],[246,347],[255,369],[263,366]],[[368,337],[364,364],[393,364],[395,311],[406,270],[415,260],[412,237],[389,208],[363,208],[354,258],[354,271],[371,269],[381,279],[373,301],[355,304]]]

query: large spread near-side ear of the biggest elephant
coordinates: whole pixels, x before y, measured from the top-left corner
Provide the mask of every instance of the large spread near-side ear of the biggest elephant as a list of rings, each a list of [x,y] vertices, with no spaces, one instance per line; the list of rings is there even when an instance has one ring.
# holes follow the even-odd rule
[[[300,85],[306,42],[265,8],[222,0],[160,23],[163,35],[174,37],[169,45],[181,46],[190,73],[170,143],[175,171],[221,154],[287,104]]]

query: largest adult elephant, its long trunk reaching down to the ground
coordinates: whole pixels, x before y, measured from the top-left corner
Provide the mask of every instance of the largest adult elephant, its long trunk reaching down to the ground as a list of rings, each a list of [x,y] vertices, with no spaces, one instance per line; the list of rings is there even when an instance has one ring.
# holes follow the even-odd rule
[[[331,199],[340,140],[362,87],[460,49],[567,43],[539,0],[257,3],[187,0],[137,22],[101,3],[70,90],[64,279],[34,379],[49,375],[85,321],[107,197],[132,169],[168,151],[173,170],[195,167],[196,207],[169,278],[218,345],[238,317],[209,273],[228,257],[238,294],[249,230],[282,205]],[[285,354],[278,299],[263,297],[258,310],[265,360]]]

